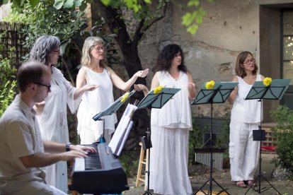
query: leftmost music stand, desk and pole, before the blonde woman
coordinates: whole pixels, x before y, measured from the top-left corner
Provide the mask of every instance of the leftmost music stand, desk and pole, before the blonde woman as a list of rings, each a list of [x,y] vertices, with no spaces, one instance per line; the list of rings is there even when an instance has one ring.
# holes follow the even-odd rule
[[[128,96],[125,97],[125,95],[127,93],[128,93]],[[127,93],[123,94],[120,98],[115,100],[115,102],[113,102],[112,105],[107,107],[103,112],[100,112],[100,113],[96,114],[95,116],[93,116],[94,121],[103,120],[103,136],[100,137],[100,143],[105,143],[105,137],[104,137],[104,134],[105,134],[105,119],[102,119],[102,117],[103,116],[108,116],[108,115],[113,114],[114,112],[117,112],[117,110],[124,104],[124,102],[135,93],[135,90],[132,90],[131,92],[127,92]]]

